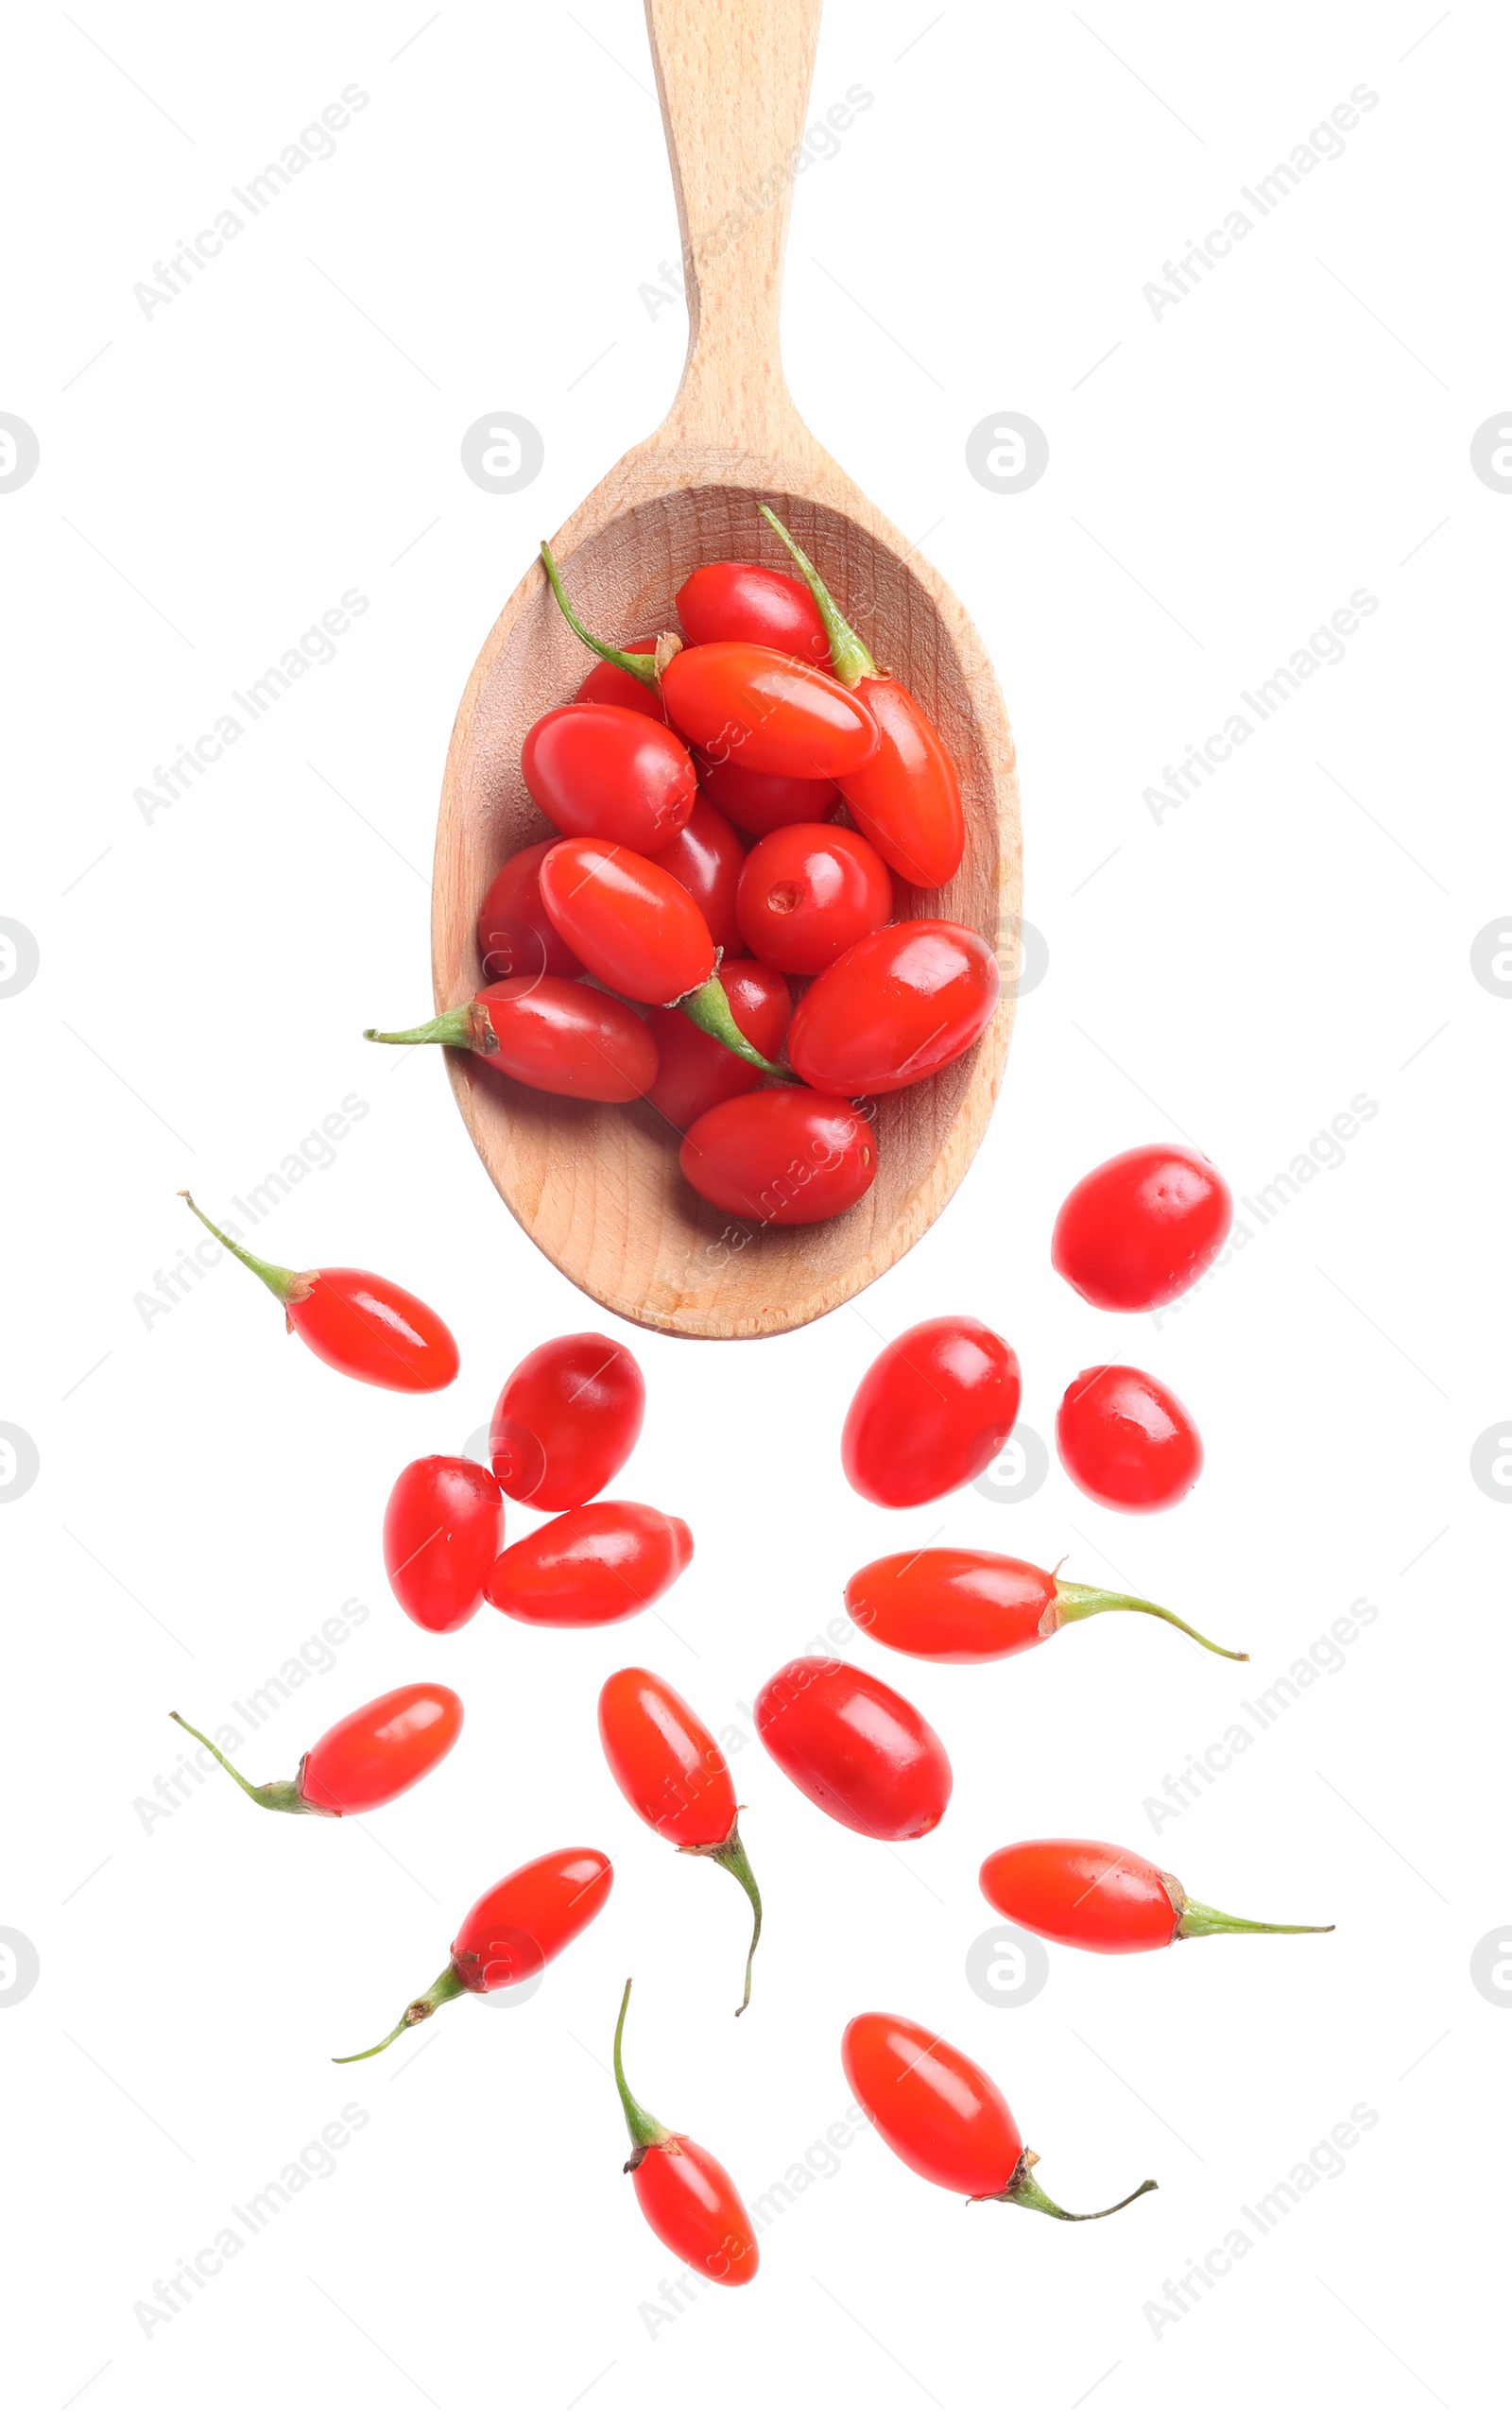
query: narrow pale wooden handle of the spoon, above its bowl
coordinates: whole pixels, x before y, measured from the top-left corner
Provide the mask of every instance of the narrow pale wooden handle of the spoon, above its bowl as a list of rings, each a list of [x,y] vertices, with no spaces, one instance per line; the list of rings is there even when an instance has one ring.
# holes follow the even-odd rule
[[[778,346],[788,208],[821,0],[647,0],[688,281],[678,436],[780,455],[802,429]]]

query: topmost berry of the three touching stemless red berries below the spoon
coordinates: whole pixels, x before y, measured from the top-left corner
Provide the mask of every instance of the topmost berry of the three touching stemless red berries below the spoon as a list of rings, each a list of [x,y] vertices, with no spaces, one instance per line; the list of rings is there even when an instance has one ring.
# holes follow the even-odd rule
[[[550,1337],[509,1373],[494,1405],[494,1480],[526,1506],[582,1506],[608,1487],[642,1422],[645,1378],[630,1347],[598,1330]]]

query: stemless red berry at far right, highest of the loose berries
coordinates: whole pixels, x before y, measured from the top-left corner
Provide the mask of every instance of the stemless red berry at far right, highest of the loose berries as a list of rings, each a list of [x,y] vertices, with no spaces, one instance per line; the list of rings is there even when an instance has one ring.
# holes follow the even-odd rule
[[[1149,1313],[1197,1284],[1233,1226],[1212,1160],[1180,1143],[1117,1153],[1071,1187],[1049,1257],[1102,1313]]]

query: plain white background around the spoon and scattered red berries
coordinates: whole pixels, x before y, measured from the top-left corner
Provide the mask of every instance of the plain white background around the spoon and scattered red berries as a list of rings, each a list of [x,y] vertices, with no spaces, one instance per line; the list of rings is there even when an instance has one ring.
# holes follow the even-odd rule
[[[439,1061],[361,1027],[429,1010],[424,869],[482,635],[676,388],[683,312],[637,291],[678,245],[645,24],[635,0],[12,12],[0,409],[41,446],[0,497],[0,911],[41,952],[0,1000],[0,1417],[41,1456],[0,1504],[0,1923],[41,1959],[0,2008],[12,2410],[1427,2417],[1490,2388],[1512,2015],[1471,1952],[1512,1916],[1512,1511],[1471,1446],[1510,1412],[1512,1005],[1471,942],[1512,884],[1512,501],[1468,448],[1512,380],[1510,48],[1500,10],[1434,0],[831,0],[812,116],[850,85],[875,104],[797,184],[788,373],[998,664],[1049,974],[967,1184],[855,1308],[761,1347],[620,1332],[649,1383],[623,1487],[698,1538],[666,1623],[552,1637],[485,1611],[429,1640],[383,1577],[393,1475],[460,1448],[540,1337],[613,1322],[511,1226]],[[143,317],[133,286],[351,82],[337,155]],[[1146,281],[1362,82],[1345,157],[1156,320]],[[516,497],[458,458],[499,409],[545,438]],[[1049,438],[1018,497],[964,460],[1003,409]],[[371,610],[337,661],[148,823],[153,768],[346,589]],[[1347,659],[1156,823],[1161,768],[1357,589],[1379,610]],[[177,1187],[225,1206],[346,1095],[368,1114],[259,1242],[434,1301],[463,1347],[443,1400],[342,1383],[225,1264],[170,1313],[133,1301],[194,1242]],[[1357,1095],[1379,1109],[1342,1167],[1158,1327],[1052,1276],[1054,1209],[1107,1153],[1187,1133],[1253,1194]],[[1020,1504],[850,1497],[836,1441],[877,1337],[957,1308],[1018,1347],[1042,1439],[1086,1361],[1149,1364],[1197,1412],[1199,1490],[1144,1521],[1059,1470]],[[649,1661],[749,1732],[739,1703],[846,1574],[940,1523],[1127,1574],[1255,1661],[1134,1615],[981,1671],[858,1649],[945,1734],[955,1802],[892,1853],[734,1756],[768,1901],[737,2027],[744,1901],[620,1802],[598,1681]],[[1163,1778],[1362,1599],[1342,1671],[1156,1836]],[[252,1775],[419,1676],[468,1703],[448,1766],[361,1829],[286,1826],[223,1778],[143,1821],[179,1754],[165,1710],[223,1722],[344,1601],[366,1620],[250,1741]],[[1052,1831],[1338,1933],[1052,1952],[1047,1988],[996,2008],[964,1974],[976,1865]],[[523,2008],[327,2066],[560,1841],[608,1848],[618,1882]],[[749,2199],[843,2119],[838,2037],[870,2005],[993,2071],[1061,2202],[1146,2173],[1161,2194],[1076,2231],[967,2211],[863,2134],[812,2158],[836,2175],[763,2231],[751,2289],[671,2306],[606,2076],[628,1972],[637,2093]],[[346,2102],[366,2124],[334,2175],[143,2328]],[[1248,2228],[1354,2105],[1379,2117],[1342,2177]],[[1231,2274],[1151,2318],[1236,2226]]]

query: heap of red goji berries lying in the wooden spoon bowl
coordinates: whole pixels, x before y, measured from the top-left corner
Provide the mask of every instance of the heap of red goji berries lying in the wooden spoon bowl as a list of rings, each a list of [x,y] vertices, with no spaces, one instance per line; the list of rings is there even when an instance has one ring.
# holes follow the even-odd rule
[[[802,579],[700,564],[681,635],[632,647],[584,630],[543,545],[601,659],[521,748],[560,838],[494,874],[472,1000],[368,1037],[475,1051],[540,1092],[645,1100],[695,1194],[792,1228],[860,1201],[877,1177],[863,1100],[972,1049],[998,962],[969,925],[894,918],[894,877],[935,891],[960,865],[957,773],[761,511]]]

